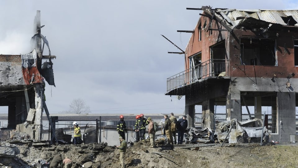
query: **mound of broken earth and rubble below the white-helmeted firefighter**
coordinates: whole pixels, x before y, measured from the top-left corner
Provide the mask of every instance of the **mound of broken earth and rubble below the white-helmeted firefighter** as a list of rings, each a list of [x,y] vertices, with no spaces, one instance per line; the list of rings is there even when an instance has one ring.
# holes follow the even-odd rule
[[[107,143],[81,145],[50,145],[48,141],[12,140],[2,142],[0,146],[0,166],[2,167],[40,167],[40,163],[50,162],[56,154],[62,158],[71,158],[73,167],[82,167],[92,162],[94,167],[100,167],[101,154],[109,156],[114,152]],[[97,157],[98,156],[98,157]],[[86,167],[86,166],[84,166]]]

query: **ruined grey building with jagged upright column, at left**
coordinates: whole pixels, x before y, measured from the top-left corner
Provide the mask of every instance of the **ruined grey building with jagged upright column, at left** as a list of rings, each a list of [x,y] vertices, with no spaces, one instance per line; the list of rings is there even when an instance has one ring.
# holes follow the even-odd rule
[[[0,55],[0,105],[8,107],[8,125],[1,130],[26,132],[25,136],[30,139],[41,139],[45,80],[55,86],[52,59],[56,56],[51,55],[48,41],[41,34],[43,26],[40,11],[37,11],[35,34],[31,40],[28,39],[31,44],[29,53]],[[45,45],[49,55],[43,55]],[[5,139],[2,137],[2,140]]]

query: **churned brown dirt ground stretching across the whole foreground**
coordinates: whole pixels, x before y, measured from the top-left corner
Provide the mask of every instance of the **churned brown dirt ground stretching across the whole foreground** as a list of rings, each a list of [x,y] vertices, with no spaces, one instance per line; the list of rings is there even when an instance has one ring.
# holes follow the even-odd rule
[[[246,144],[187,144],[163,145],[148,148],[150,142],[138,142],[128,145],[125,164],[130,168],[197,168],[197,167],[298,167],[298,146],[278,144],[260,146]],[[197,147],[201,146],[201,147]],[[8,152],[14,151],[11,156]],[[38,161],[50,161],[61,153],[73,161],[72,168],[104,167],[118,168],[119,149],[107,146],[107,143],[81,145],[49,145],[48,142],[2,142],[0,145],[0,167],[38,167]],[[4,154],[3,154],[4,153]]]

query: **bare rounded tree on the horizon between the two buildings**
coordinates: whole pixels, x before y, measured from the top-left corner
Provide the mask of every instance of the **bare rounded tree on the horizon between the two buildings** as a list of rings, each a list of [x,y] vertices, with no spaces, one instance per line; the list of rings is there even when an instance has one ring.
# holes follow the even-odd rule
[[[74,114],[89,114],[90,113],[90,107],[86,105],[85,101],[83,99],[77,98],[72,100],[72,102],[69,105],[70,112]]]

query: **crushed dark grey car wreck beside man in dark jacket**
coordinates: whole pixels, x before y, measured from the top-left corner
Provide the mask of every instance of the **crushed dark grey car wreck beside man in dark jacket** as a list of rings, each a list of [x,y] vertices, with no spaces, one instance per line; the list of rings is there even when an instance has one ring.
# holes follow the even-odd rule
[[[193,127],[187,128],[184,134],[184,142],[188,143],[214,143],[214,134],[211,128],[196,129]]]

